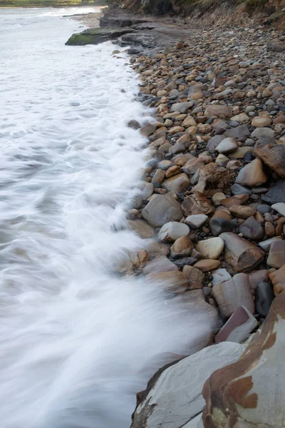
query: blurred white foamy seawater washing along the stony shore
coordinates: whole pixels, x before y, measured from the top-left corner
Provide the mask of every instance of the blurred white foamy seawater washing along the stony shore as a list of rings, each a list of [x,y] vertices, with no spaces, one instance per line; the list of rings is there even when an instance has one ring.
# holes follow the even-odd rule
[[[51,10],[0,14],[2,428],[125,428],[135,392],[185,352],[190,315],[161,287],[113,274],[149,114],[114,46],[66,47]],[[124,91],[121,91],[121,89]]]

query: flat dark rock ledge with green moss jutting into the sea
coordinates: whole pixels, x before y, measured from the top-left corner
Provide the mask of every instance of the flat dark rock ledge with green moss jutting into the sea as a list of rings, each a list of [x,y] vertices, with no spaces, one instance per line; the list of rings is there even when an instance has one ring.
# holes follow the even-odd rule
[[[100,44],[104,41],[118,39],[123,34],[132,33],[133,29],[87,29],[81,33],[74,33],[66,42],[66,45],[84,46],[87,44]]]

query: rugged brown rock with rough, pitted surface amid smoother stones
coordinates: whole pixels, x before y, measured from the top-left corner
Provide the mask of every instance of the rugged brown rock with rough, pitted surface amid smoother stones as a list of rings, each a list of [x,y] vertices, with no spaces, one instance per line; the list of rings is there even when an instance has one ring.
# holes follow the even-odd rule
[[[215,193],[227,191],[229,188],[229,170],[208,163],[199,168],[199,181],[192,192],[199,192],[210,198]]]

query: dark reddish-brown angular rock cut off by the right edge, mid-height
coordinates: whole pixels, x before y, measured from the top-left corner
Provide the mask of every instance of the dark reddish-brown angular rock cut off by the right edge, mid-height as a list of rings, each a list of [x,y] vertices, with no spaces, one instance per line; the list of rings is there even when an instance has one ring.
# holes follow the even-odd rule
[[[257,147],[254,153],[281,178],[285,178],[285,146],[272,143],[266,144],[264,147]]]

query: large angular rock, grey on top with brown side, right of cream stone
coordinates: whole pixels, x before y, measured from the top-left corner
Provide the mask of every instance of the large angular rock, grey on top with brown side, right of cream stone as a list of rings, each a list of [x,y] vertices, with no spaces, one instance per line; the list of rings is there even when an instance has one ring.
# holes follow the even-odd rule
[[[224,240],[224,258],[237,272],[247,272],[264,260],[264,251],[232,232],[219,235]]]

